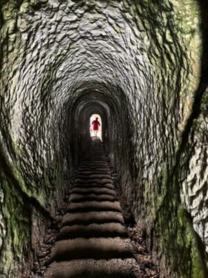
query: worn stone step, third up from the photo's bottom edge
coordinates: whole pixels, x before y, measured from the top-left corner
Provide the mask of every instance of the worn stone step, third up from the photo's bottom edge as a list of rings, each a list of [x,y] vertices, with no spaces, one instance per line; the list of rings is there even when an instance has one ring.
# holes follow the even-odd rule
[[[68,238],[100,238],[100,237],[126,237],[126,231],[123,224],[104,223],[104,224],[76,224],[73,226],[64,226],[60,229],[58,239]]]

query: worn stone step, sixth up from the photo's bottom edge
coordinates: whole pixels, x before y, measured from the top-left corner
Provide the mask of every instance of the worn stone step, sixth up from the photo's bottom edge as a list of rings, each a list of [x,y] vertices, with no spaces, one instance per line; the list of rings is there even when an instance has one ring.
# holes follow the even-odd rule
[[[71,194],[69,197],[69,202],[83,202],[83,201],[117,201],[116,196],[113,195],[95,195],[95,194],[88,194],[88,195],[81,195],[81,194]]]

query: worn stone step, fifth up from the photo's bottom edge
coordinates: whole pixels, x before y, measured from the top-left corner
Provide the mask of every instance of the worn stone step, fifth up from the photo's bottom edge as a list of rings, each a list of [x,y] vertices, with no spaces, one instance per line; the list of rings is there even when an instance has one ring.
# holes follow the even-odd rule
[[[119,202],[71,202],[67,206],[68,212],[80,212],[80,211],[119,211],[121,212],[121,206]]]

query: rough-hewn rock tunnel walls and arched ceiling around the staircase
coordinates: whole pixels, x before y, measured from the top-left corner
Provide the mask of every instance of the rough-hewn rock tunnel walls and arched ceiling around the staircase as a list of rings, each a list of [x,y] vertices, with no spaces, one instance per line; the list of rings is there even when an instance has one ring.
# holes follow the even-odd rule
[[[94,114],[158,277],[208,277],[207,14],[205,0],[1,0],[1,277],[33,277]]]

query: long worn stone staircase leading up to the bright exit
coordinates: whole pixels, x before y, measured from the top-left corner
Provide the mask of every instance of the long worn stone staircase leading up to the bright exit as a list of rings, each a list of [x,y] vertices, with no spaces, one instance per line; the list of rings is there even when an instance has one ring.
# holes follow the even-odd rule
[[[140,277],[99,140],[78,165],[50,262],[45,278]]]

